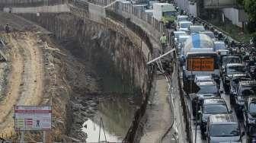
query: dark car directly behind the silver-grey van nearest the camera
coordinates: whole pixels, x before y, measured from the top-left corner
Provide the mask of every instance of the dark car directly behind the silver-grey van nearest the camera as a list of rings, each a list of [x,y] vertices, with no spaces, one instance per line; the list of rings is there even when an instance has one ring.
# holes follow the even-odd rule
[[[210,115],[221,113],[231,113],[224,99],[210,98],[203,100],[203,104],[200,106],[200,111],[198,111],[202,135],[205,135],[208,117]]]

